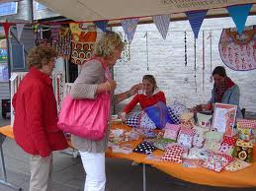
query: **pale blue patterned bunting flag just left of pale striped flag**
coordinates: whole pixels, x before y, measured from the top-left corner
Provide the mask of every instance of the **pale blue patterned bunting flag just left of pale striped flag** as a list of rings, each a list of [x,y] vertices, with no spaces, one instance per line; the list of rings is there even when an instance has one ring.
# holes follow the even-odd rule
[[[132,41],[134,32],[136,31],[137,22],[138,19],[127,19],[121,21],[123,29],[128,36],[128,43]]]

